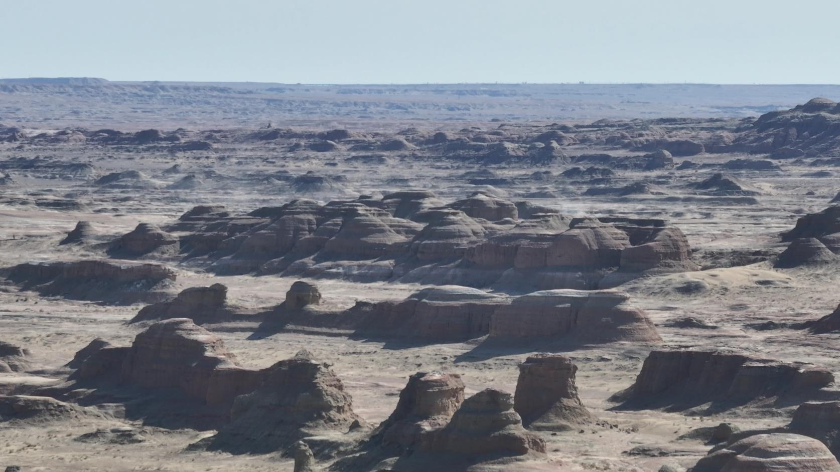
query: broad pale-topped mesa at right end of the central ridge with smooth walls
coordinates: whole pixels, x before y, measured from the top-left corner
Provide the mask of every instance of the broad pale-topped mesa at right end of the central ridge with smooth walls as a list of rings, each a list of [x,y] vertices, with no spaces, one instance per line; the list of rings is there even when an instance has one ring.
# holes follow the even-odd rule
[[[491,338],[564,337],[574,343],[659,342],[654,324],[617,290],[543,290],[496,309]]]

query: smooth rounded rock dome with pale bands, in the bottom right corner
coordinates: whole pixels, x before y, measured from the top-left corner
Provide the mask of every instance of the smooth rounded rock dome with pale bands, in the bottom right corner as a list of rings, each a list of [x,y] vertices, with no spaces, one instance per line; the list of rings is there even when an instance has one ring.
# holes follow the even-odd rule
[[[814,438],[799,434],[756,434],[711,449],[690,472],[840,472],[840,464]]]

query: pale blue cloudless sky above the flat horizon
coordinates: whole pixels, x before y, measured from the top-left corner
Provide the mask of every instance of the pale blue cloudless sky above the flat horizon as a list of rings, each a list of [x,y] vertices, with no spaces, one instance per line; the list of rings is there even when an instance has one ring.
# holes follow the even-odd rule
[[[0,77],[840,83],[840,0],[2,0]]]

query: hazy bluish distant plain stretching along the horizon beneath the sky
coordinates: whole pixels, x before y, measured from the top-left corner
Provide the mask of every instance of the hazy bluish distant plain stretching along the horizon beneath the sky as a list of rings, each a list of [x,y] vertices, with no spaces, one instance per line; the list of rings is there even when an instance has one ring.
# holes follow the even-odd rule
[[[365,122],[591,122],[601,118],[748,117],[840,86],[698,84],[289,85],[2,79],[0,123],[37,127],[258,127]]]

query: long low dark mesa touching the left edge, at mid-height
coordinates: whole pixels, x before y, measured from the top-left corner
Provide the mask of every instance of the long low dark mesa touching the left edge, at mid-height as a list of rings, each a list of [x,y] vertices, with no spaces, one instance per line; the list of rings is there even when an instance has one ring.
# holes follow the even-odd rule
[[[171,297],[176,273],[154,263],[87,260],[27,262],[3,271],[24,290],[106,303],[155,303]]]

